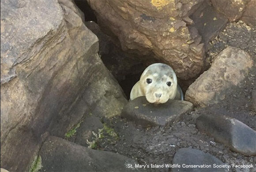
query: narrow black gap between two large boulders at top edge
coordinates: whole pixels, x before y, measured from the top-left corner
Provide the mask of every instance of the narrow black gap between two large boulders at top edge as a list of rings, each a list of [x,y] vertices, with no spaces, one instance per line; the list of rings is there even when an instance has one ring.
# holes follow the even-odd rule
[[[97,18],[94,15],[94,11],[90,8],[87,0],[74,0],[75,4],[83,12],[85,21],[94,21],[97,23]]]

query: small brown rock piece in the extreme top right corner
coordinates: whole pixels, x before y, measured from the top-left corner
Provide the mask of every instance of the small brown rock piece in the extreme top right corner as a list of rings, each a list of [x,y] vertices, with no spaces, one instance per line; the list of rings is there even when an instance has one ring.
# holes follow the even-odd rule
[[[252,26],[256,26],[256,0],[251,0],[245,9],[241,20],[246,22],[247,24],[251,24]]]

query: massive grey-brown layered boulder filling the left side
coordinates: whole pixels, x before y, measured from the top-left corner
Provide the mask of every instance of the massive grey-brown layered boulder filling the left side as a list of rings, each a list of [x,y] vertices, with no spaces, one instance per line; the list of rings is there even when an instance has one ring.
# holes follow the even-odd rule
[[[49,133],[64,136],[89,112],[118,115],[127,100],[71,1],[0,3],[1,167],[28,171]]]

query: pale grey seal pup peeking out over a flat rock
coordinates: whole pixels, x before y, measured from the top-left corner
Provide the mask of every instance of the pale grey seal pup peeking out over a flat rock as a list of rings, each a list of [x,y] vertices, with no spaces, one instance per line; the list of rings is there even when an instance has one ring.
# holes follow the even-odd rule
[[[184,100],[175,72],[163,63],[151,64],[143,71],[132,87],[130,99],[140,96],[146,96],[147,101],[154,104],[165,103],[169,99]]]

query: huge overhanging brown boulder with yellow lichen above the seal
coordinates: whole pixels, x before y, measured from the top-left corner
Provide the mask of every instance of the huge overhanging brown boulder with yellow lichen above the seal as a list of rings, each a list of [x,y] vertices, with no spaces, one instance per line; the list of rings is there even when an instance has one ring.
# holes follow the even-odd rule
[[[203,0],[88,0],[99,25],[117,37],[123,50],[157,56],[181,79],[196,77],[205,63],[204,48],[189,33],[188,18]],[[195,36],[196,37],[196,36]]]

